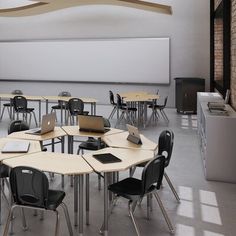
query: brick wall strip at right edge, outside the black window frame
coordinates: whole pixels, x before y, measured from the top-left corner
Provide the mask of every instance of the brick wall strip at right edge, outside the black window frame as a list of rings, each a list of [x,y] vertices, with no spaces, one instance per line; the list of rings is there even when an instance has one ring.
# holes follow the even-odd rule
[[[231,0],[231,103],[236,109],[236,0]]]

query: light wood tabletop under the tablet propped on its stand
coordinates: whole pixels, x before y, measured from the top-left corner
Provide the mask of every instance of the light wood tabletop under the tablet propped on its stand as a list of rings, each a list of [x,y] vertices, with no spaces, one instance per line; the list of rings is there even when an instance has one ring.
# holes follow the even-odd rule
[[[116,133],[109,136],[103,136],[102,140],[109,146],[109,147],[116,147],[116,148],[128,148],[128,149],[138,149],[138,150],[150,150],[155,152],[157,149],[157,144],[153,141],[146,138],[144,135],[140,134],[142,144],[135,144],[127,140],[129,133],[122,132]]]

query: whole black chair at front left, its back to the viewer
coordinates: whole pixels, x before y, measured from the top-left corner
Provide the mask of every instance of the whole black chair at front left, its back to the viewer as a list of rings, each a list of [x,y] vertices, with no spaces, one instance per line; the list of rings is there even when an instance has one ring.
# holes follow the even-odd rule
[[[73,235],[69,213],[66,205],[63,203],[65,192],[49,189],[48,178],[43,172],[31,167],[15,167],[10,172],[10,185],[13,204],[8,214],[3,236],[8,235],[10,220],[16,207],[53,211],[56,214],[55,236],[59,235],[58,206],[63,208],[69,235]],[[26,228],[25,218],[24,226]]]

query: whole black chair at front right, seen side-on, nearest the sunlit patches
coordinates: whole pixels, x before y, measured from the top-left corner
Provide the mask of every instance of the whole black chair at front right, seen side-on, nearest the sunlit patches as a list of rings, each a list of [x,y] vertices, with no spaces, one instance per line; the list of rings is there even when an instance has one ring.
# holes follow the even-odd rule
[[[164,166],[165,157],[158,155],[145,165],[141,180],[130,177],[108,186],[108,189],[118,197],[124,197],[129,200],[129,215],[132,219],[137,235],[140,235],[140,232],[134,219],[134,210],[140,199],[151,194],[155,196],[170,232],[174,232],[171,221],[157,193],[157,190],[160,189],[162,183]]]

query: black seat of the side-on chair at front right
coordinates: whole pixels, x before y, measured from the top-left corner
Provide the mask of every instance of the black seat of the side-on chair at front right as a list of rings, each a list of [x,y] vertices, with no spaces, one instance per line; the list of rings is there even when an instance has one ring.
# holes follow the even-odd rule
[[[149,191],[153,191],[154,185],[151,186]],[[137,200],[142,197],[142,181],[135,178],[126,178],[117,183],[108,186],[108,189],[113,193],[127,199]]]

